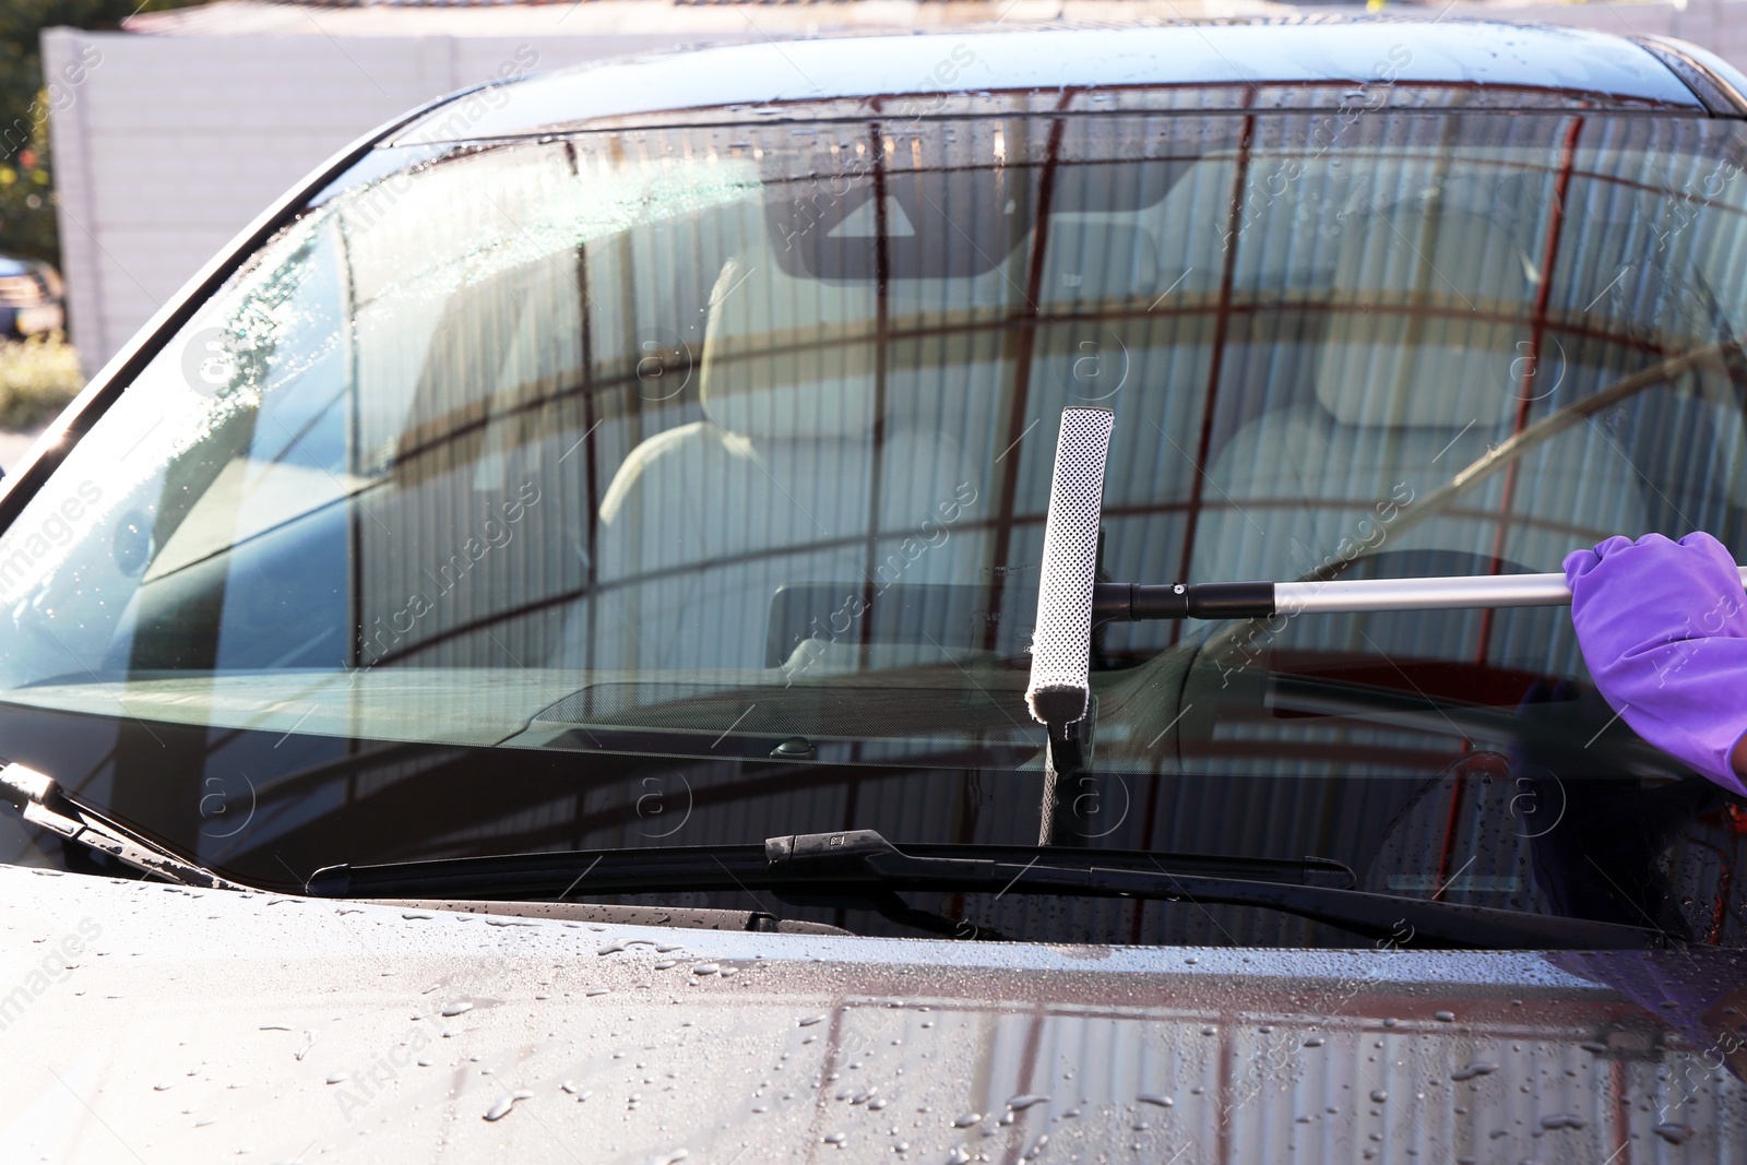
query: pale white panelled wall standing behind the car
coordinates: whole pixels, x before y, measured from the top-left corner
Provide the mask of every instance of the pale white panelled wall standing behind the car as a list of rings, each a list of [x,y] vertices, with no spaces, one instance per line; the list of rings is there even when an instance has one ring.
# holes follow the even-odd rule
[[[1452,14],[1677,35],[1747,72],[1747,0],[1462,3]],[[711,38],[755,33],[716,30]],[[70,328],[86,372],[101,367],[273,199],[370,128],[515,68],[522,45],[538,54],[535,68],[547,70],[695,35],[683,28],[568,37],[45,31],[45,77],[77,75],[63,70],[89,61],[51,114]]]

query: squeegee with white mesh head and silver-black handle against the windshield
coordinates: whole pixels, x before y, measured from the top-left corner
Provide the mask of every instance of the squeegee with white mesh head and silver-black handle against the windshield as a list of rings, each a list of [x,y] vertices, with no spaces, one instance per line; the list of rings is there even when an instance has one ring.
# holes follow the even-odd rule
[[[1043,527],[1038,620],[1025,702],[1050,730],[1048,772],[1074,772],[1088,744],[1092,625],[1143,618],[1272,618],[1340,611],[1565,606],[1564,575],[1356,578],[1314,582],[1101,583],[1097,536],[1115,414],[1064,409]],[[1742,568],[1747,585],[1747,568]],[[1045,817],[1050,805],[1045,805]]]

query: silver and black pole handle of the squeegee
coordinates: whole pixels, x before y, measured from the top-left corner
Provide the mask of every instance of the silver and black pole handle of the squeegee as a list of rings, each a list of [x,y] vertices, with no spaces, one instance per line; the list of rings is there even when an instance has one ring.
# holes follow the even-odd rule
[[[1747,585],[1747,568],[1740,568]],[[1454,578],[1350,578],[1247,583],[1097,583],[1092,618],[1268,618],[1340,611],[1445,611],[1497,606],[1569,606],[1564,575]]]

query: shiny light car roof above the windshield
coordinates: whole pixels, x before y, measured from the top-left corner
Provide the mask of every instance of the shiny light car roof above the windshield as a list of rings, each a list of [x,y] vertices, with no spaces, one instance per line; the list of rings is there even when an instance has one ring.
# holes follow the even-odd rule
[[[454,103],[438,107],[395,134],[393,143],[524,136],[601,119],[722,107],[1268,82],[1436,84],[1560,93],[1595,107],[1707,108],[1660,54],[1576,28],[1359,19],[949,30],[765,40],[583,65],[475,94],[466,117],[458,117]]]

